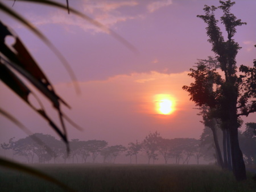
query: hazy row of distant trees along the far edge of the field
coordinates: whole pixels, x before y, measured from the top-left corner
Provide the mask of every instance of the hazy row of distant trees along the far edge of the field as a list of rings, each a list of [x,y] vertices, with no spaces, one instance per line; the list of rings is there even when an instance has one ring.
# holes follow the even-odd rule
[[[240,132],[241,148],[247,164],[256,162],[256,138],[251,135],[253,130],[246,129]],[[221,132],[218,132],[221,137]],[[47,145],[46,145],[47,143]],[[14,156],[22,156],[26,158],[28,163],[46,163],[56,159],[63,159],[64,163],[67,159],[74,162],[88,162],[88,157],[92,162],[96,162],[96,158],[101,156],[103,163],[114,163],[120,155],[129,157],[130,163],[138,162],[138,155],[145,155],[147,163],[155,163],[156,160],[162,158],[167,164],[170,159],[175,164],[188,164],[191,157],[194,157],[197,164],[200,158],[205,161],[216,160],[216,147],[213,141],[213,135],[209,127],[205,127],[201,135],[201,139],[191,138],[175,138],[165,139],[160,136],[159,132],[148,134],[142,142],[138,140],[130,142],[127,146],[108,145],[105,140],[87,140],[72,139],[70,141],[71,151],[68,154],[65,144],[61,140],[57,140],[54,136],[34,133],[33,135],[15,141],[15,137],[10,138],[9,143],[2,143],[2,149],[11,150]],[[35,158],[36,157],[36,158]],[[38,161],[35,161],[38,160]]]

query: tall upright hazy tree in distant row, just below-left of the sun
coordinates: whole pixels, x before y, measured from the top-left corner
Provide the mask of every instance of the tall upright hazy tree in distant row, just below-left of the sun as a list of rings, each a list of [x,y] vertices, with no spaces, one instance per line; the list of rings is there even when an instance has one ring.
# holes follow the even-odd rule
[[[153,163],[155,160],[157,160],[158,154],[156,152],[158,151],[159,147],[159,138],[160,133],[156,131],[154,133],[148,134],[143,140],[142,149],[147,154],[148,164],[150,163],[151,158],[153,159]]]

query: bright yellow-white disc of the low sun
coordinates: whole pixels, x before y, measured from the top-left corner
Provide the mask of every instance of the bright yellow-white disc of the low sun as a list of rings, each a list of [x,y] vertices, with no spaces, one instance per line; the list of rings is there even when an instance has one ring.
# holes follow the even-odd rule
[[[175,111],[175,101],[168,94],[155,95],[156,111],[159,114],[170,115]]]

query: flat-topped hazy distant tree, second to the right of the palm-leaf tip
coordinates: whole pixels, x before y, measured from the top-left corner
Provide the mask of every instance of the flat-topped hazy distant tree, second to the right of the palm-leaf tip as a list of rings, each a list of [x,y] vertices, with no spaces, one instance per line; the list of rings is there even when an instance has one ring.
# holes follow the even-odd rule
[[[104,140],[89,140],[88,148],[90,153],[92,153],[93,162],[95,162],[96,157],[100,154],[102,149],[108,145],[107,141]]]

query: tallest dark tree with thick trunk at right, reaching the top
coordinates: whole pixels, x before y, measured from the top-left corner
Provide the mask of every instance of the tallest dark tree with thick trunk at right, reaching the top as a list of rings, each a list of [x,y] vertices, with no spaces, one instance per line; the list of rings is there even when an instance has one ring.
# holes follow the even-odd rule
[[[239,44],[234,41],[236,27],[242,26],[241,19],[237,19],[230,12],[235,2],[220,1],[221,6],[204,7],[205,15],[197,15],[207,24],[208,41],[212,44],[212,51],[216,54],[216,59],[220,62],[220,69],[224,72],[224,78],[219,81],[218,89],[209,91],[205,86],[208,84],[191,84],[191,87],[185,86],[184,89],[191,95],[192,101],[198,106],[208,105],[216,108],[215,115],[221,119],[221,128],[230,133],[230,149],[232,154],[233,173],[237,181],[246,179],[245,163],[238,142],[238,127],[241,126],[241,115],[249,115],[256,111],[255,98],[255,63],[254,67],[241,66],[240,71],[245,73],[243,76],[237,76],[236,56],[241,49]],[[221,16],[221,23],[225,26],[227,40],[217,26],[218,20],[215,18],[214,11],[220,9],[224,12]],[[208,74],[202,76],[208,79]],[[192,76],[193,77],[193,76]],[[193,78],[198,78],[195,76]],[[196,79],[197,80],[197,79]],[[199,82],[202,82],[201,79]],[[194,91],[196,89],[196,91]],[[207,92],[208,91],[208,92]],[[200,96],[200,97],[199,97]],[[214,97],[214,99],[212,99]],[[238,112],[238,110],[240,110]]]

